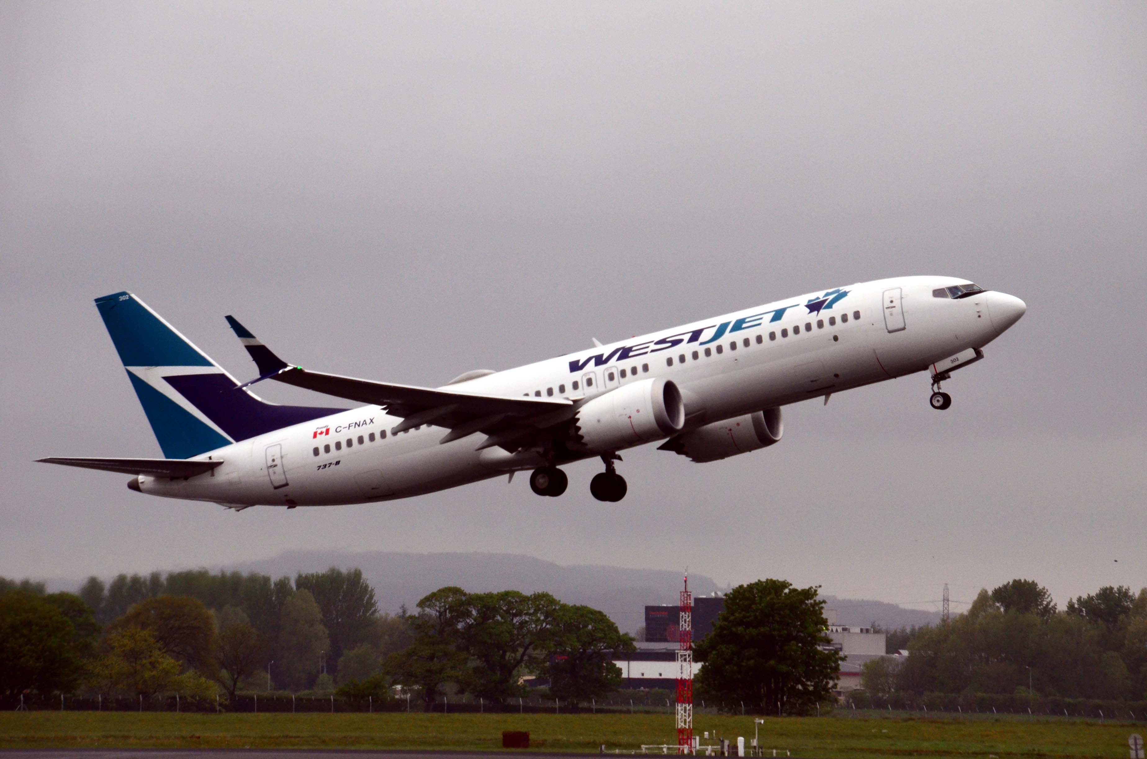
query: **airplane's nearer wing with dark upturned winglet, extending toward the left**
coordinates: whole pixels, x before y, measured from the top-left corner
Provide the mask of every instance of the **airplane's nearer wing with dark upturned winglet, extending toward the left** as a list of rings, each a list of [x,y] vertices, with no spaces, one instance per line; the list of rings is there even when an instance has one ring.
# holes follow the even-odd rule
[[[271,352],[233,316],[227,322],[255,360],[259,377],[247,386],[264,380],[274,380],[296,388],[383,406],[388,414],[401,416],[395,432],[403,432],[422,424],[450,428],[442,443],[484,432],[487,438],[479,448],[502,445],[517,447],[540,429],[562,422],[574,413],[572,401],[564,398],[510,398],[482,396],[457,390],[438,390],[415,385],[399,385],[372,380],[358,380],[335,374],[311,371],[289,366]]]

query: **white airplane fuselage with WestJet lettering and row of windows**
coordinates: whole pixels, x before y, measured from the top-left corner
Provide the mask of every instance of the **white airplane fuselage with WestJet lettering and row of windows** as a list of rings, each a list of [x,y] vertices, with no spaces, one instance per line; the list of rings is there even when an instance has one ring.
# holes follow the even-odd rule
[[[1002,299],[1011,296],[933,296],[936,288],[965,282],[912,276],[860,283],[844,288],[846,296],[819,313],[806,304],[840,290],[807,294],[487,374],[450,390],[564,397],[576,408],[582,399],[661,376],[681,390],[686,429],[695,429],[921,371],[983,347],[1015,321],[1002,315]],[[993,298],[999,299],[996,324]],[[328,506],[408,498],[544,463],[530,451],[476,451],[484,439],[477,432],[446,444],[439,444],[446,430],[438,427],[391,435],[399,421],[379,406],[354,408],[195,456],[224,461],[211,472],[188,479],[141,476],[140,490],[235,506]],[[322,430],[329,432],[317,436]]]

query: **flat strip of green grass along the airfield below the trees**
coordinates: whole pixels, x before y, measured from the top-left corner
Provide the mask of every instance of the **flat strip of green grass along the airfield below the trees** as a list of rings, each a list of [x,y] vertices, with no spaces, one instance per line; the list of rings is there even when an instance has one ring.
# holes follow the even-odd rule
[[[751,717],[699,715],[697,734],[752,737]],[[0,749],[227,748],[500,750],[502,730],[533,749],[596,752],[676,743],[669,714],[0,713]],[[765,756],[1126,757],[1128,723],[1084,720],[785,718],[760,726]],[[705,743],[702,740],[702,743]]]

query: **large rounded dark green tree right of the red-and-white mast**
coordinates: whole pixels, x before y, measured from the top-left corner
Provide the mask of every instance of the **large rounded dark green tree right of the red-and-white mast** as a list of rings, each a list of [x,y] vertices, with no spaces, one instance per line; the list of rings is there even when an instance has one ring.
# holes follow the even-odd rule
[[[697,686],[726,704],[755,712],[802,712],[832,697],[841,655],[826,650],[819,587],[757,580],[733,588],[712,633],[697,643]]]

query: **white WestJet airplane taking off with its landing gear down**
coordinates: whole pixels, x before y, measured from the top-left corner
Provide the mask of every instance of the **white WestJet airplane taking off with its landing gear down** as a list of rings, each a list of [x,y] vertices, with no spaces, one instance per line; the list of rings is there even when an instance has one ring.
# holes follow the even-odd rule
[[[918,371],[946,409],[941,383],[1027,311],[962,279],[876,280],[420,388],[288,363],[228,315],[258,370],[240,383],[131,292],[95,305],[164,457],[38,461],[235,510],[390,501],[524,470],[535,493],[557,496],[561,467],[592,457],[604,471],[591,494],[617,502],[617,462],[635,446],[719,461],[780,441],[787,405]],[[271,404],[251,390],[265,381],[365,406]]]

